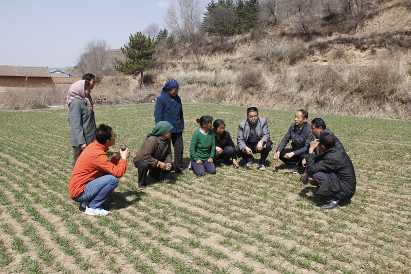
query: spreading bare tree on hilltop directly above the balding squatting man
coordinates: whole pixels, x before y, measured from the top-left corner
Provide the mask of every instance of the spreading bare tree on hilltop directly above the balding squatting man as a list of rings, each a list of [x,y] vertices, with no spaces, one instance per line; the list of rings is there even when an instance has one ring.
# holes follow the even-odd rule
[[[303,27],[304,33],[308,34],[309,24],[315,19],[317,0],[286,0],[284,4],[287,14],[294,17]]]

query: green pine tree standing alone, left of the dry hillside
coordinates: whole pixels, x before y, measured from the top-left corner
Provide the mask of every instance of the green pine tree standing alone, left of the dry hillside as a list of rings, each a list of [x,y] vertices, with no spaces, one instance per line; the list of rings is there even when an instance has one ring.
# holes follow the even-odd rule
[[[156,59],[153,58],[155,43],[150,37],[146,37],[141,31],[136,34],[130,34],[130,42],[124,45],[121,51],[126,54],[127,61],[122,62],[117,60],[117,69],[127,75],[141,74],[141,83],[143,83],[143,72],[156,64]]]

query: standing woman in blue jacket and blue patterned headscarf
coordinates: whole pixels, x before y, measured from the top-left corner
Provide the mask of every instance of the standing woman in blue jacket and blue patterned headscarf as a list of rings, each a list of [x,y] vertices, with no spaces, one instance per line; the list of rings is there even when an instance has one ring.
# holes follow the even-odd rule
[[[174,147],[175,172],[185,174],[182,161],[184,118],[181,99],[178,96],[178,88],[177,80],[171,79],[165,83],[161,89],[161,95],[157,98],[154,118],[156,119],[156,124],[160,121],[167,121],[173,125],[171,141]]]

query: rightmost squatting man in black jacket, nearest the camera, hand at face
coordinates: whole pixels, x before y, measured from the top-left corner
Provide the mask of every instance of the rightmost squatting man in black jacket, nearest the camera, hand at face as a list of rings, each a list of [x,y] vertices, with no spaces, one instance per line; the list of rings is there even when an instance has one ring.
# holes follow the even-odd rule
[[[316,156],[313,152],[317,147],[321,154]],[[326,203],[322,209],[339,207],[341,200],[350,199],[354,195],[357,185],[354,167],[347,153],[335,146],[333,134],[319,134],[318,139],[310,143],[305,159],[307,172],[313,173],[318,194]]]

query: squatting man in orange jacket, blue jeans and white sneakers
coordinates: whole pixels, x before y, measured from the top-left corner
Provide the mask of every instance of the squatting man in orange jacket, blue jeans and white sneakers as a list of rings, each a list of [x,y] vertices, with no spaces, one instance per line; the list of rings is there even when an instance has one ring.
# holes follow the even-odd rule
[[[87,215],[104,216],[108,214],[102,205],[113,193],[127,169],[130,151],[119,152],[108,160],[107,151],[116,143],[117,135],[111,127],[100,124],[96,132],[96,141],[87,145],[73,168],[68,191],[71,198],[83,203]]]

